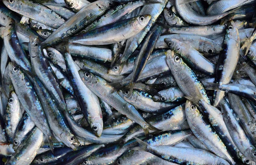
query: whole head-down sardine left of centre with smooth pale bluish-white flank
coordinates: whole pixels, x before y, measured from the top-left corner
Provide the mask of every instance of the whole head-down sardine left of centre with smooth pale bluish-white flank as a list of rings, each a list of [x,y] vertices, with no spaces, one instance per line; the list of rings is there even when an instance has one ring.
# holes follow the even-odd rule
[[[70,78],[79,107],[85,119],[90,124],[93,133],[100,137],[103,129],[103,120],[99,99],[81,80],[79,76],[80,68],[73,61],[70,53],[65,52],[64,58],[67,66],[67,74]]]

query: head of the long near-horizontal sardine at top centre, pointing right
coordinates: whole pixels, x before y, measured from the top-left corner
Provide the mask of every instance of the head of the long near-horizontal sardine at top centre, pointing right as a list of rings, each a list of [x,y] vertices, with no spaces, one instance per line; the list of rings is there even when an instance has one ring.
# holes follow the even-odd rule
[[[150,19],[150,15],[140,15],[138,17],[134,17],[131,20],[132,29],[134,31],[141,31],[148,24]]]

